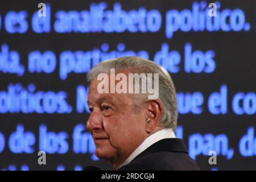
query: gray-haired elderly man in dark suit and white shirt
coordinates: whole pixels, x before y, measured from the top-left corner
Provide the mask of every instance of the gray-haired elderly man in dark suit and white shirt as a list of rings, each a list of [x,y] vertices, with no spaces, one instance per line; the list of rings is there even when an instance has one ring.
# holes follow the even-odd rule
[[[98,158],[118,170],[199,169],[175,138],[176,92],[164,68],[140,57],[121,57],[98,64],[87,78],[87,129]]]

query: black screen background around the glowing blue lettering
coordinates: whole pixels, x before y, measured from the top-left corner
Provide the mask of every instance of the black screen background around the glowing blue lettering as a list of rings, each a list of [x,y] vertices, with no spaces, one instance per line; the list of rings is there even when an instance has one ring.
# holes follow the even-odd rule
[[[204,94],[205,101],[203,113],[180,114],[178,125],[183,127],[183,139],[188,146],[188,138],[194,133],[205,135],[226,134],[229,138],[229,147],[234,148],[234,156],[228,160],[225,156],[217,156],[217,165],[210,166],[208,155],[199,155],[196,162],[201,169],[256,169],[256,139],[255,155],[250,157],[242,156],[239,152],[238,143],[243,135],[246,134],[248,127],[256,126],[255,113],[253,115],[236,115],[232,110],[232,98],[238,92],[255,93],[255,57],[256,57],[256,39],[255,39],[255,1],[220,1],[221,9],[242,9],[246,15],[246,22],[250,23],[249,31],[224,32],[224,31],[201,31],[201,32],[181,32],[177,31],[171,39],[165,35],[165,15],[168,10],[192,9],[193,1],[118,1],[122,5],[122,10],[138,10],[143,6],[147,10],[157,9],[162,14],[162,27],[158,32],[122,32],[122,33],[64,33],[58,34],[54,31],[55,13],[59,10],[89,10],[92,1],[47,1],[51,5],[51,32],[36,34],[31,28],[32,14],[38,10],[37,1],[1,1],[0,14],[2,16],[2,28],[0,30],[0,46],[3,43],[9,45],[9,50],[19,52],[20,63],[24,65],[26,71],[22,77],[15,74],[2,73],[0,71],[0,90],[7,90],[10,83],[22,83],[27,86],[30,83],[36,85],[36,90],[53,90],[59,92],[65,90],[68,93],[67,102],[73,106],[71,114],[23,114],[23,113],[5,113],[0,114],[0,132],[5,135],[5,150],[0,153],[0,169],[9,169],[10,165],[15,165],[20,169],[22,164],[27,164],[31,170],[55,170],[61,164],[65,169],[73,170],[75,165],[85,167],[88,165],[99,166],[104,169],[112,169],[105,160],[92,161],[90,154],[74,154],[72,150],[73,127],[78,123],[86,124],[89,114],[76,112],[76,88],[77,85],[86,85],[86,74],[71,73],[66,80],[60,80],[58,61],[55,72],[29,73],[27,71],[28,53],[34,50],[44,52],[51,50],[55,52],[57,60],[61,52],[70,51],[88,51],[93,48],[100,48],[102,43],[108,43],[109,50],[116,49],[118,43],[124,43],[126,50],[132,49],[139,51],[145,49],[150,59],[161,48],[162,43],[168,43],[171,50],[177,50],[181,55],[181,66],[179,73],[171,74],[174,80],[177,92],[197,92]],[[45,3],[47,3],[45,2]],[[100,1],[93,1],[100,2]],[[105,2],[105,1],[104,1]],[[114,1],[107,1],[108,9],[113,10]],[[210,1],[207,1],[209,4]],[[24,34],[8,34],[3,26],[3,18],[6,13],[14,10],[26,10],[28,12],[28,31]],[[203,52],[211,49],[216,53],[214,61],[216,69],[213,73],[185,73],[182,69],[184,60],[184,45],[192,44],[192,49],[199,49]],[[228,113],[213,115],[210,114],[207,107],[207,98],[213,92],[220,92],[220,86],[228,86]],[[32,154],[13,154],[8,147],[8,137],[16,130],[16,125],[22,123],[26,131],[32,131],[36,136],[35,152]],[[48,130],[58,133],[67,131],[69,134],[69,150],[66,154],[47,154],[47,165],[38,164],[38,130],[39,125],[44,123]],[[254,135],[255,138],[255,135]]]

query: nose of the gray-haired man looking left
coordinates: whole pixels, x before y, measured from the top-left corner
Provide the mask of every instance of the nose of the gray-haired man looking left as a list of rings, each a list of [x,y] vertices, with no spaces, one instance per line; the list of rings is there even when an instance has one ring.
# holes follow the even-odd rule
[[[87,121],[86,128],[89,131],[97,131],[102,129],[102,117],[98,113],[92,112]]]

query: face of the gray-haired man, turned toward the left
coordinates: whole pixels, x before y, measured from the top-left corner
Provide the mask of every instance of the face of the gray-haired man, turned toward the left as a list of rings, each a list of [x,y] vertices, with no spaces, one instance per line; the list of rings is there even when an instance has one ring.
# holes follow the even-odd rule
[[[87,129],[96,144],[96,156],[110,163],[123,162],[146,138],[145,113],[134,113],[130,94],[98,93],[97,79],[90,84],[88,105],[91,111]]]

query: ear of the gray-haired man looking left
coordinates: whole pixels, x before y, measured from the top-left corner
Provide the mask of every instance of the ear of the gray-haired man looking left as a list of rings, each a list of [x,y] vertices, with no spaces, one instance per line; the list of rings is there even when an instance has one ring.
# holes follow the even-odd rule
[[[146,104],[146,123],[145,130],[148,134],[152,133],[159,126],[163,106],[159,100],[148,100]]]

